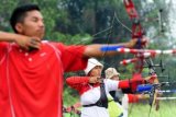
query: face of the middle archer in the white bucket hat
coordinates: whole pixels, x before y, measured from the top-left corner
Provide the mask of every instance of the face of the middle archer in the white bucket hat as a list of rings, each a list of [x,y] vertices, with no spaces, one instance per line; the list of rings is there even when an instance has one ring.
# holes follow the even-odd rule
[[[102,67],[96,66],[90,72],[90,77],[101,77]]]

